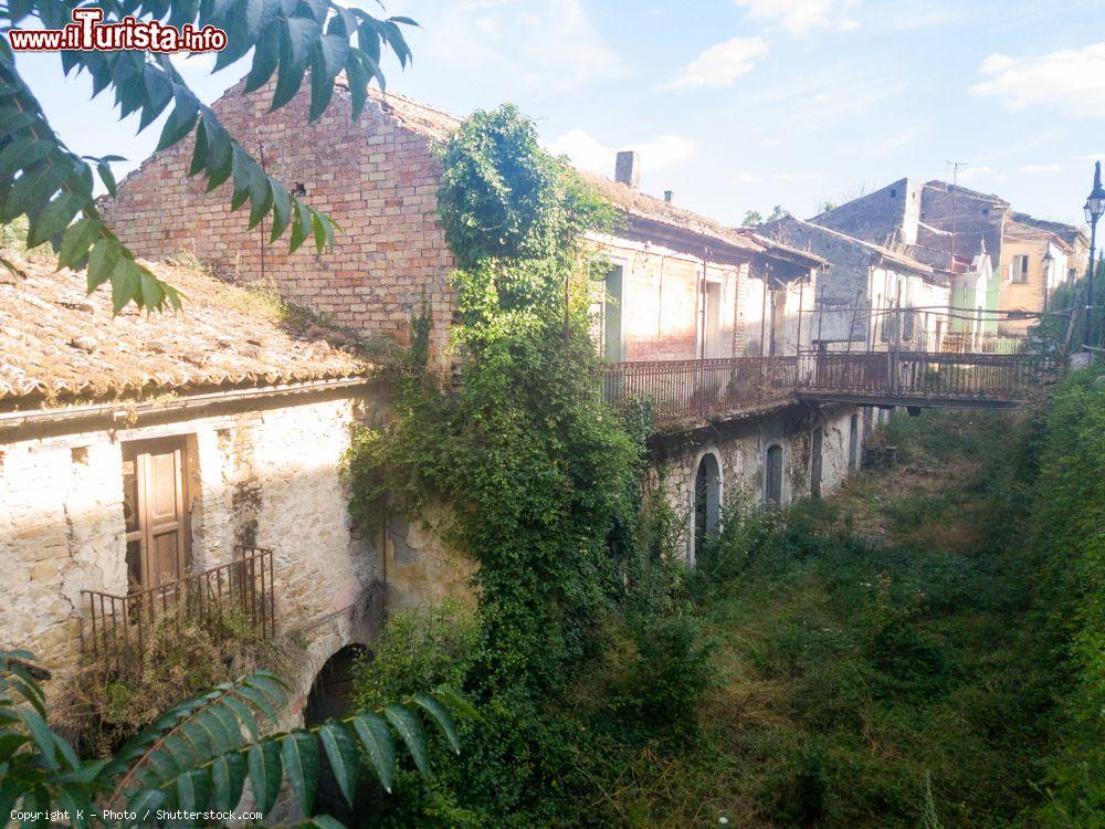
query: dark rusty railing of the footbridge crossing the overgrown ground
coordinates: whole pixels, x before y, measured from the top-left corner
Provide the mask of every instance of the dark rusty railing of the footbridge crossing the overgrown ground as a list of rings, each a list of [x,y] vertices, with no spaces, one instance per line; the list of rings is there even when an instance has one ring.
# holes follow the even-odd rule
[[[1017,402],[1057,375],[1057,358],[1034,354],[924,351],[803,354],[800,391],[855,393],[887,401],[916,398]]]

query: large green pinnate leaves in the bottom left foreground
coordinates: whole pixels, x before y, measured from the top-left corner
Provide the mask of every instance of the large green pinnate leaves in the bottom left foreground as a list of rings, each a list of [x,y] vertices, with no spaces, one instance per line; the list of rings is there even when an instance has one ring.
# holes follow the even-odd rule
[[[418,712],[440,727],[460,753],[453,713],[467,704],[448,686],[419,693],[382,710],[329,720],[317,728],[264,734],[286,705],[284,684],[259,671],[177,703],[106,759],[82,759],[46,724],[46,704],[33,657],[0,654],[0,808],[69,809],[72,826],[145,826],[149,810],[230,811],[246,781],[257,809],[267,814],[286,779],[304,815],[313,814],[325,757],[346,799],[364,749],[371,769],[389,786],[394,735],[429,776],[428,738]],[[94,812],[93,805],[97,808]],[[102,820],[99,809],[127,810],[128,820]],[[77,817],[77,812],[83,817]],[[194,826],[198,816],[175,823]],[[326,825],[320,821],[318,825]],[[330,823],[333,825],[333,823]]]

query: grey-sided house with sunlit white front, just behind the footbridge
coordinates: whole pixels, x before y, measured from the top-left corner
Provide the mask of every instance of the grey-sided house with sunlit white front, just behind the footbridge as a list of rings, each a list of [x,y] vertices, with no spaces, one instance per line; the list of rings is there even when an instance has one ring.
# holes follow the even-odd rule
[[[951,280],[904,252],[786,217],[760,232],[811,251],[831,267],[817,276],[808,330],[830,350],[938,351],[947,333]]]

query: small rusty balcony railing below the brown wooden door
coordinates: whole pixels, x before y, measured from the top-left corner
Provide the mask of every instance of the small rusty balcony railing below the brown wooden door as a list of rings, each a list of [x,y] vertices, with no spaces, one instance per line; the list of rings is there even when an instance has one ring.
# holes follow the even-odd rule
[[[235,550],[240,557],[233,562],[127,596],[82,590],[88,609],[81,625],[83,648],[94,657],[126,651],[141,658],[158,626],[187,622],[202,625],[218,640],[242,626],[262,638],[273,636],[272,550]]]

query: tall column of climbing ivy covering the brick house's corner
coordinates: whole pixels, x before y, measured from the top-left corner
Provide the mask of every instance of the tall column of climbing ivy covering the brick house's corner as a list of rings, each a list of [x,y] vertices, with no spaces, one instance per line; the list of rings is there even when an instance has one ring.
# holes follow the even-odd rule
[[[511,106],[474,114],[439,153],[463,384],[398,372],[393,419],[355,434],[347,472],[357,515],[382,497],[412,517],[451,507],[445,538],[478,565],[467,690],[496,712],[463,790],[512,814],[552,774],[543,706],[632,581],[643,440],[602,403],[591,339],[604,265],[586,234],[611,209]]]

